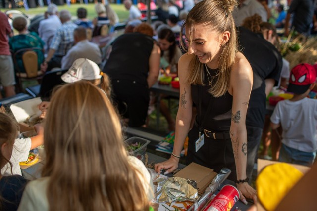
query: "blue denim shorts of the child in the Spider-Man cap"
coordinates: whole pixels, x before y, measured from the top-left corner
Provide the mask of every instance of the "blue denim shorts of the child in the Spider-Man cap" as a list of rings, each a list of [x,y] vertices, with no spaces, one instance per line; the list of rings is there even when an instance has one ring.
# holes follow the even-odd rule
[[[279,161],[299,164],[304,166],[312,166],[316,152],[303,152],[282,144],[281,151],[279,153]]]

